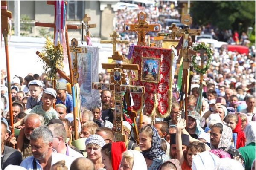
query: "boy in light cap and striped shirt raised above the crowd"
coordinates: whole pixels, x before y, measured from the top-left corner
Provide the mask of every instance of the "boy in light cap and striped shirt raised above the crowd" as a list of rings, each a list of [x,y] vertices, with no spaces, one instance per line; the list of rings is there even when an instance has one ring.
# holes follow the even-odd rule
[[[42,104],[36,105],[30,111],[30,113],[36,113],[44,117],[44,125],[47,125],[49,121],[54,118],[58,118],[58,112],[53,109],[52,105],[56,102],[56,91],[52,88],[44,89],[42,95]]]

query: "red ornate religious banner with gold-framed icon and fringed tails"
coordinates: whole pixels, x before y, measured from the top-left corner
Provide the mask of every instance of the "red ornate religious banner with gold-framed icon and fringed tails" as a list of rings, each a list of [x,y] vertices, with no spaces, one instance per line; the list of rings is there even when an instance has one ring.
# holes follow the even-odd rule
[[[134,46],[133,64],[138,64],[137,86],[145,87],[144,103],[147,112],[156,112],[160,117],[166,117],[171,111],[172,99],[172,49]],[[155,97],[156,96],[156,99]],[[133,109],[141,107],[141,95],[132,94]]]

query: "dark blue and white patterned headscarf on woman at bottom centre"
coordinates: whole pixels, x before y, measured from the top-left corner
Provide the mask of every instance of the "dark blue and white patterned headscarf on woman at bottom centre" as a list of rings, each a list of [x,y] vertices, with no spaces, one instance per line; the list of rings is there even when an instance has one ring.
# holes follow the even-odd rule
[[[161,138],[157,133],[157,130],[155,127],[147,125],[152,128],[153,130],[153,136],[151,141],[151,148],[149,150],[142,151],[141,153],[145,158],[148,159],[155,159],[159,158],[164,154],[164,151],[160,149],[161,147]]]

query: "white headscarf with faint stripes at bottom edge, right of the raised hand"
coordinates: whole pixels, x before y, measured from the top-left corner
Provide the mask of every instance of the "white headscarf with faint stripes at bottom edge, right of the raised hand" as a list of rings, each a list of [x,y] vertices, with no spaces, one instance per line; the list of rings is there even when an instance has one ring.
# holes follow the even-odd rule
[[[217,170],[221,159],[210,153],[209,151],[204,151],[197,154],[192,161],[192,170]]]

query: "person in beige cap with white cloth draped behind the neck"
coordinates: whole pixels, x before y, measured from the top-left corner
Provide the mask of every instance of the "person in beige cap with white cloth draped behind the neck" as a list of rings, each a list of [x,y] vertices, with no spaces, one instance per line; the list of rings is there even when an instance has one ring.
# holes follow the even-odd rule
[[[191,111],[187,117],[187,131],[192,138],[197,139],[198,135],[204,130],[201,128],[201,116],[196,111]]]

